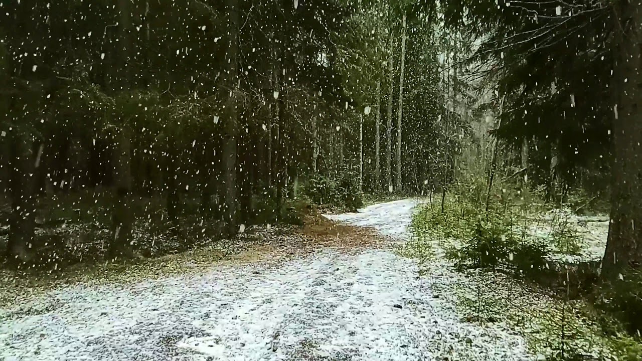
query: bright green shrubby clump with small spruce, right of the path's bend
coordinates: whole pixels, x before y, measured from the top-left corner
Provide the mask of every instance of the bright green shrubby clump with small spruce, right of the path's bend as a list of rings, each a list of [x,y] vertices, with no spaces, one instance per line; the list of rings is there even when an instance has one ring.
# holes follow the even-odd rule
[[[449,197],[441,204],[422,206],[412,219],[416,238],[412,252],[441,248],[463,269],[490,268],[518,276],[548,276],[560,256],[577,255],[580,238],[564,217],[532,224],[538,213],[523,204],[484,204]],[[434,252],[433,252],[434,253]]]

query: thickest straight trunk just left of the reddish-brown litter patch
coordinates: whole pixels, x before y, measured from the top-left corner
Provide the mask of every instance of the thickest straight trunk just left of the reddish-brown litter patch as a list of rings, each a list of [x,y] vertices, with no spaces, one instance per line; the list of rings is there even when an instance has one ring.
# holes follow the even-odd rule
[[[225,223],[227,225],[227,236],[236,234],[237,203],[236,198],[236,161],[238,141],[238,119],[236,109],[236,96],[238,93],[238,45],[236,35],[238,33],[238,9],[236,0],[226,0],[225,6],[228,13],[228,46],[227,49],[227,86],[230,89],[230,98],[227,106],[227,122],[225,123],[225,137],[223,139],[223,160],[225,164]]]

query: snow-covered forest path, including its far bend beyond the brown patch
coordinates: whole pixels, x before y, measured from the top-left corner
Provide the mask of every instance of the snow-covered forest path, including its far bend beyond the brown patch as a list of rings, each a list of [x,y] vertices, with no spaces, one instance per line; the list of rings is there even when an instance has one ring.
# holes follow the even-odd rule
[[[415,200],[333,216],[408,236]],[[0,360],[533,360],[501,325],[464,322],[386,247],[76,285],[0,309]]]

